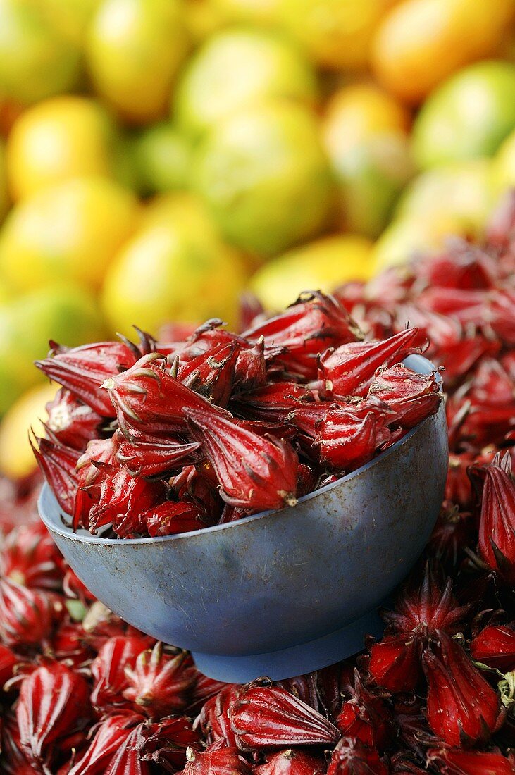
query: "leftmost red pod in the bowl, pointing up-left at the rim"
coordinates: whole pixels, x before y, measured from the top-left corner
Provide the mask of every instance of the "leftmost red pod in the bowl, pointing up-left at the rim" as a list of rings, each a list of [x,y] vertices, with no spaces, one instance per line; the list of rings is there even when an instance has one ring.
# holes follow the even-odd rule
[[[29,439],[43,477],[50,486],[64,512],[74,511],[75,491],[77,490],[77,472],[75,467],[80,453],[76,449],[64,446],[57,439]]]

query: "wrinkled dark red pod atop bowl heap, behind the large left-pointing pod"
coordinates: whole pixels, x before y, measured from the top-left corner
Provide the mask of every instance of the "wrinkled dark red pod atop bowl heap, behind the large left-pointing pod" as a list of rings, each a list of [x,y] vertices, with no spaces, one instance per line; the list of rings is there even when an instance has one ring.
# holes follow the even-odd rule
[[[226,406],[231,398],[240,350],[236,341],[221,344],[180,364],[177,379],[211,403]]]

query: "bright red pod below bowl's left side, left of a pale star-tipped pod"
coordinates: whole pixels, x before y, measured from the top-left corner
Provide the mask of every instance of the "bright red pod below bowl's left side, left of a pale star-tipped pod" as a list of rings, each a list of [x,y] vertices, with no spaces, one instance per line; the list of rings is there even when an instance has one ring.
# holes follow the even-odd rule
[[[91,663],[91,675],[94,678],[91,704],[98,711],[112,708],[130,708],[130,701],[123,696],[129,687],[125,674],[126,667],[134,667],[142,651],[148,649],[149,642],[144,637],[115,636],[109,638]]]

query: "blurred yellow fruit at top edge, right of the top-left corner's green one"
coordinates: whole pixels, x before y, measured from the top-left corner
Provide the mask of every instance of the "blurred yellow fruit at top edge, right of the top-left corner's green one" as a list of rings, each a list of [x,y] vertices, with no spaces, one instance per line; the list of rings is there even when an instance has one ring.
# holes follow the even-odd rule
[[[167,112],[187,47],[180,0],[104,0],[88,31],[88,69],[108,105],[146,124]]]

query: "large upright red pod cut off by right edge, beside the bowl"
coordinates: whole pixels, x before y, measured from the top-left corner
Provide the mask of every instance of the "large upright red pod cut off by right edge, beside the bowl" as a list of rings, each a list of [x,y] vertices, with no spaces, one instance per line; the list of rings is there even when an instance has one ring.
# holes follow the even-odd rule
[[[509,584],[515,584],[515,483],[510,453],[497,453],[490,465],[469,469],[472,482],[482,483],[479,552]]]

